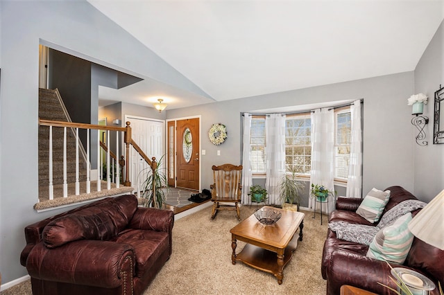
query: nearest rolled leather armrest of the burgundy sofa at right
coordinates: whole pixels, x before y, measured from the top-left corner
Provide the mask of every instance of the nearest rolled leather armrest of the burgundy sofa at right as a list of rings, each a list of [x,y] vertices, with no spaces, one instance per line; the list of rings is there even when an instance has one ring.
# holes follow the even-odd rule
[[[405,267],[396,264],[391,266]],[[381,295],[392,294],[390,289],[380,285],[396,289],[390,271],[385,261],[349,251],[334,251],[327,266],[327,294],[339,294],[342,285],[352,285]]]

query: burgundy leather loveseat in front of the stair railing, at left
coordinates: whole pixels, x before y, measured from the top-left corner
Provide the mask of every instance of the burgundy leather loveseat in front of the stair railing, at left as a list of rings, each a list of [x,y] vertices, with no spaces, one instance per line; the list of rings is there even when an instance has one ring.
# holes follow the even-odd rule
[[[142,294],[171,256],[172,211],[106,198],[26,226],[34,295]]]

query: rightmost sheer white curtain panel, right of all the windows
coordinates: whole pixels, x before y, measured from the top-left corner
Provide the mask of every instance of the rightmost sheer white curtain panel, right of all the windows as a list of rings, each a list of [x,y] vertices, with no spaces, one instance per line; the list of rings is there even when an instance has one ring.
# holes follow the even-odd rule
[[[352,130],[348,164],[347,197],[362,197],[362,129],[361,100],[350,106]]]

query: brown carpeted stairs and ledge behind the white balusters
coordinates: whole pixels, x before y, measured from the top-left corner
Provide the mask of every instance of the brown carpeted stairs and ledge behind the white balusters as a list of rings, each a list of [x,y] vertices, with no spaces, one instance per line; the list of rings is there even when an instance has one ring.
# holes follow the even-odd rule
[[[39,89],[39,118],[40,120],[70,122],[65,110],[62,98],[58,90]],[[71,123],[72,124],[72,123]],[[90,181],[90,189],[87,190],[87,161],[81,152],[82,144],[79,142],[78,155],[78,185],[79,195],[76,195],[76,136],[75,128],[67,127],[67,196],[64,197],[63,186],[63,136],[64,127],[52,127],[53,149],[53,199],[50,196],[49,187],[49,126],[39,125],[38,157],[39,157],[39,201],[34,205],[35,210],[44,211],[49,208],[69,206],[81,202],[89,202],[99,197],[117,196],[133,192],[129,186],[117,187],[107,181]],[[85,130],[85,129],[84,129]],[[101,189],[99,189],[101,187]],[[89,191],[89,193],[87,193]]]

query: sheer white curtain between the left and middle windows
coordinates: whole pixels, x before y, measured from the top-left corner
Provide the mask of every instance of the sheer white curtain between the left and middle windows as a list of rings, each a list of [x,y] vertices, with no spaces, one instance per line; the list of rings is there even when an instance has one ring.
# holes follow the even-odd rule
[[[268,204],[280,204],[279,183],[285,173],[285,115],[271,114],[265,118],[266,181]]]

